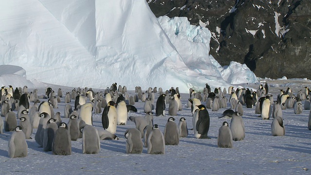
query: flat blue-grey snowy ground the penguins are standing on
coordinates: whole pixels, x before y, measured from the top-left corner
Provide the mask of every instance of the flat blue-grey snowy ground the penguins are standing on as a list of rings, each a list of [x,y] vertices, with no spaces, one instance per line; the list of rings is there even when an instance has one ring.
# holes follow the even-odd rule
[[[268,82],[274,99],[279,93],[278,89],[286,90],[287,87],[294,89],[294,93],[305,86],[310,86],[310,80],[270,80]],[[11,81],[14,85],[14,81]],[[45,88],[62,88],[63,93],[71,91],[72,87],[61,87],[40,82],[34,82],[39,90],[38,94],[44,94]],[[109,86],[109,85],[106,85]],[[126,86],[126,85],[121,85]],[[259,84],[242,84],[245,88],[258,88]],[[77,87],[75,87],[77,88]],[[91,88],[91,87],[88,87]],[[159,88],[159,87],[158,87]],[[29,91],[33,89],[29,88]],[[94,89],[95,91],[103,89]],[[146,90],[146,89],[143,89]],[[135,95],[134,89],[128,89],[129,95]],[[192,128],[192,116],[187,107],[189,94],[182,93],[182,111],[178,112],[176,123],[181,117],[185,117],[188,129]],[[229,95],[226,94],[229,98]],[[158,94],[155,95],[156,99]],[[155,100],[156,100],[155,99]],[[46,99],[40,99],[44,101]],[[205,104],[204,102],[202,102]],[[304,104],[304,102],[303,102]],[[54,112],[61,112],[63,118],[64,98]],[[74,102],[71,101],[71,106]],[[129,116],[144,116],[141,101],[135,103],[138,112],[129,113]],[[154,123],[164,130],[168,115],[166,106],[165,117],[155,117]],[[228,104],[229,108],[230,105]],[[255,114],[255,106],[252,109],[243,106],[245,123],[245,139],[234,141],[233,148],[218,148],[218,129],[224,121],[230,123],[230,119],[219,119],[225,109],[212,112],[208,136],[211,139],[196,139],[193,131],[189,130],[188,138],[181,138],[179,145],[166,146],[165,155],[149,155],[147,149],[142,154],[125,154],[124,132],[127,128],[135,127],[128,121],[126,125],[118,125],[116,135],[120,140],[101,140],[99,154],[82,154],[82,139],[71,141],[72,155],[55,156],[52,152],[44,152],[39,148],[34,139],[27,140],[28,156],[23,158],[9,158],[7,153],[8,139],[12,132],[0,135],[0,167],[1,174],[309,174],[311,168],[311,131],[308,130],[308,116],[310,111],[303,110],[302,114],[295,115],[293,109],[283,110],[283,118],[286,134],[283,137],[271,135],[272,120],[261,120],[259,114]],[[15,111],[16,112],[16,111]],[[155,112],[155,111],[154,111]],[[101,114],[93,114],[93,124],[102,128]],[[4,119],[2,117],[2,119]],[[35,137],[34,129],[32,138]]]

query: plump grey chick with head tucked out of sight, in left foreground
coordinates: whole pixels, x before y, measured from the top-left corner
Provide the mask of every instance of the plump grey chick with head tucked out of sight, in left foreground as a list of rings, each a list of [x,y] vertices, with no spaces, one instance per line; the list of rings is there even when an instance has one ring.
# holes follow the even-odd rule
[[[101,142],[98,130],[91,125],[81,128],[83,154],[98,154],[101,150]]]

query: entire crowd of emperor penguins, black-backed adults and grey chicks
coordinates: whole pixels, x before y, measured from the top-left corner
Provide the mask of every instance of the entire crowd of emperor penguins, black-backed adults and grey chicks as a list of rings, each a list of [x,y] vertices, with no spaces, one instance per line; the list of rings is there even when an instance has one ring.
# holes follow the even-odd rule
[[[303,110],[311,109],[308,87],[298,91],[296,96],[291,88],[281,89],[277,97],[273,97],[267,83],[260,84],[258,89],[228,87],[228,99],[226,88],[212,91],[208,84],[203,92],[190,88],[188,104],[181,104],[178,87],[164,92],[156,87],[143,92],[141,87],[136,87],[134,96],[129,96],[125,86],[117,88],[117,83],[103,91],[74,88],[63,94],[58,88],[56,94],[52,88],[47,88],[45,95],[39,96],[36,89],[28,91],[26,86],[16,88],[14,93],[12,86],[0,89],[1,116],[4,117],[4,120],[0,118],[0,134],[13,132],[8,140],[8,157],[26,157],[26,140],[32,139],[32,134],[37,146],[45,152],[52,151],[53,155],[71,155],[71,141],[78,139],[83,140],[83,154],[97,154],[101,151],[101,140],[119,140],[115,135],[118,125],[126,125],[128,121],[135,123],[136,128],[124,132],[125,153],[141,154],[145,147],[149,154],[165,154],[166,145],[177,146],[180,138],[191,135],[187,122],[192,123],[195,138],[210,139],[208,130],[213,116],[209,116],[207,109],[217,112],[220,108],[227,109],[218,118],[231,121],[230,124],[219,124],[217,146],[232,148],[233,141],[247,138],[243,123],[245,107],[254,108],[254,113],[260,114],[258,117],[262,120],[272,118],[272,136],[285,135],[282,110],[293,108],[293,113],[299,115]],[[157,99],[155,94],[158,94]],[[304,106],[302,101],[305,101]],[[135,107],[138,102],[145,104],[141,111]],[[58,103],[65,103],[64,114],[54,113]],[[182,105],[190,108],[192,121],[178,117]],[[144,117],[131,115],[131,112],[144,113]],[[103,128],[93,126],[93,114],[102,115]],[[62,118],[69,118],[69,122],[62,122]],[[156,118],[167,118],[165,127],[154,123]],[[179,122],[175,123],[175,119]],[[308,129],[311,130],[311,112]]]

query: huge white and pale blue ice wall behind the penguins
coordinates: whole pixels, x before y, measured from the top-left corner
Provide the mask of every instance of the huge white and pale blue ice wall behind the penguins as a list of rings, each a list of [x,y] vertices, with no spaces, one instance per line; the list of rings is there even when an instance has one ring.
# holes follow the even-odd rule
[[[181,92],[206,83],[225,88],[258,82],[246,65],[222,67],[209,55],[207,28],[187,18],[156,18],[145,0],[0,4],[0,65],[22,67],[31,81],[91,88],[117,82]]]

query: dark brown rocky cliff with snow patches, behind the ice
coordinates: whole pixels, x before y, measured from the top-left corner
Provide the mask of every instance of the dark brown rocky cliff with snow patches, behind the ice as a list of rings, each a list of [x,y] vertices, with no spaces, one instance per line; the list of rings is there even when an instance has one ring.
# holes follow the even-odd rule
[[[156,17],[187,17],[211,33],[222,65],[245,63],[258,77],[311,77],[311,0],[147,0]]]

